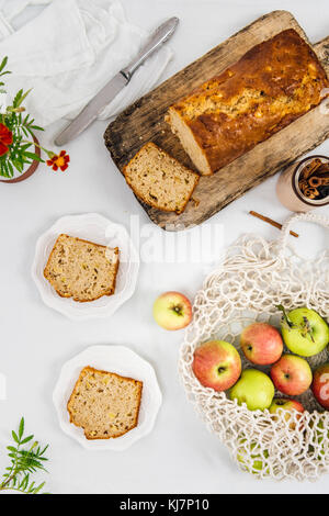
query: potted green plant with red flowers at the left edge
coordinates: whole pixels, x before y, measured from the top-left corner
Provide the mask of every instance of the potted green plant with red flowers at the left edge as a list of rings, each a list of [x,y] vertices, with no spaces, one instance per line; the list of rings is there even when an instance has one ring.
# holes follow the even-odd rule
[[[5,69],[7,61],[4,57],[0,64],[0,181],[23,181],[35,172],[39,162],[46,162],[55,171],[65,171],[70,160],[66,150],[59,154],[48,150],[39,145],[35,136],[35,131],[44,130],[35,124],[23,106],[31,90],[24,92],[21,89],[9,102],[2,79],[10,74]],[[46,155],[46,159],[42,154]]]

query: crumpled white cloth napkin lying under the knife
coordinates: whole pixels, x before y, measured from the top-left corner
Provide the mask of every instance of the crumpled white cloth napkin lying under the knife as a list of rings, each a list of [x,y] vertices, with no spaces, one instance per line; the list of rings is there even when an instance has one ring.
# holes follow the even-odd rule
[[[13,29],[12,20],[22,9],[46,3],[36,18]],[[7,90],[13,96],[32,88],[24,103],[44,127],[75,116],[128,65],[147,37],[127,22],[118,0],[0,1],[0,57],[9,57],[12,71],[4,76]],[[149,91],[171,56],[163,45],[147,59],[100,119],[116,115]]]

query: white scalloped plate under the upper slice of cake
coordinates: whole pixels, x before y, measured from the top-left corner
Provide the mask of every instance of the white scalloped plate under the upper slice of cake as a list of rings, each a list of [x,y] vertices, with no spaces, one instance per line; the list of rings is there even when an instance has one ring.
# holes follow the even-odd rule
[[[88,303],[78,303],[72,299],[60,298],[44,277],[54,244],[61,233],[77,236],[95,244],[118,247],[120,267],[116,288],[113,295]],[[97,213],[71,215],[59,218],[36,243],[32,277],[44,303],[73,321],[91,317],[109,317],[134,293],[139,269],[139,256],[124,226],[114,224]]]

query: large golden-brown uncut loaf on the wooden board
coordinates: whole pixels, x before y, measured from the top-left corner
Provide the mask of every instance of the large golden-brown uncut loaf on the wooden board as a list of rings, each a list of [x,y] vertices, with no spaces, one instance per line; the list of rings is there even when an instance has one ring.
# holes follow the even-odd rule
[[[211,175],[317,106],[328,87],[313,49],[286,30],[171,105],[166,120]]]

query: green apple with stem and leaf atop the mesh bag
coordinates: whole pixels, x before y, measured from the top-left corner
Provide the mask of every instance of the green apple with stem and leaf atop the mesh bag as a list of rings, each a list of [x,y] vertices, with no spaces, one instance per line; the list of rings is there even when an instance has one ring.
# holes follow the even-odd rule
[[[281,332],[286,347],[302,357],[313,357],[326,348],[329,343],[329,327],[326,321],[310,309],[295,309],[283,312]]]

